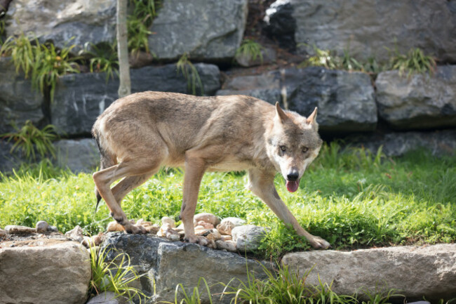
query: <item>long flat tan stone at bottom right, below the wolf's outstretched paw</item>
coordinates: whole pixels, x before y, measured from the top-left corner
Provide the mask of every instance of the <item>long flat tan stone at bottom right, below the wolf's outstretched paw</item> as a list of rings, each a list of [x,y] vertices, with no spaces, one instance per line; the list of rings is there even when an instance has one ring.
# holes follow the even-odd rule
[[[359,291],[361,299],[367,299],[363,289],[372,292],[378,284],[401,290],[408,300],[456,296],[456,244],[287,253],[282,263],[300,275],[312,269],[309,284],[319,284],[319,275],[321,282],[333,282],[335,293]]]

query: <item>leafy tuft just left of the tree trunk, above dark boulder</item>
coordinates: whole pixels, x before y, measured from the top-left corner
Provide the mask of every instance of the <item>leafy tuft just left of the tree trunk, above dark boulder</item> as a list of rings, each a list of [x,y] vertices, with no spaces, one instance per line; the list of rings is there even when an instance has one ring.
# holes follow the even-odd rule
[[[87,44],[85,49],[87,50]],[[114,74],[119,75],[119,58],[117,58],[116,44],[90,44],[90,72],[105,72],[106,81]]]

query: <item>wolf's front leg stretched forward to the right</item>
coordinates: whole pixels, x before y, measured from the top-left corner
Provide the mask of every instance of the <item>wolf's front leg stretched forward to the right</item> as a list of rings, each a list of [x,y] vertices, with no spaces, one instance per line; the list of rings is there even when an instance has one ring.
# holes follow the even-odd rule
[[[274,173],[267,173],[258,169],[250,169],[248,171],[249,189],[257,197],[260,197],[276,215],[283,220],[283,223],[291,225],[298,235],[301,235],[309,241],[315,249],[328,249],[330,244],[321,237],[316,237],[300,226],[297,223],[295,216],[290,212],[286,204],[279,197],[274,186]]]

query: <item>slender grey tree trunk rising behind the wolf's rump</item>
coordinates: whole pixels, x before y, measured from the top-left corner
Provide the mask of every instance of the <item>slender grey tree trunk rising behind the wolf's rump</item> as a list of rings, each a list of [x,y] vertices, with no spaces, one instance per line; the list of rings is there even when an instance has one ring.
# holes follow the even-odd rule
[[[128,64],[127,2],[117,0],[117,55],[119,57],[119,98],[131,93],[130,65]]]

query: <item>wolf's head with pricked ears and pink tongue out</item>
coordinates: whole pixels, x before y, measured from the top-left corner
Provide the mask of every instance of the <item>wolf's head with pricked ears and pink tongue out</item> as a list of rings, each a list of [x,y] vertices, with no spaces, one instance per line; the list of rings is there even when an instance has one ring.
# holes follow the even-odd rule
[[[307,166],[320,151],[316,108],[309,117],[296,112],[284,112],[276,103],[276,115],[272,127],[266,133],[269,159],[282,173],[287,190],[295,192]]]

